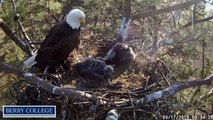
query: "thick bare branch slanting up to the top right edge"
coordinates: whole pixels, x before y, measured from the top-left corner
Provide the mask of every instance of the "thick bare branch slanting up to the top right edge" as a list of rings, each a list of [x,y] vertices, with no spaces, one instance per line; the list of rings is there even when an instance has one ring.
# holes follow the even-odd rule
[[[196,4],[200,1],[202,1],[202,0],[191,0],[191,1],[188,1],[188,2],[181,3],[181,4],[173,5],[173,6],[170,6],[170,7],[167,7],[167,8],[163,8],[163,9],[159,9],[159,10],[151,10],[151,11],[148,11],[148,12],[145,12],[145,13],[139,13],[139,14],[132,16],[132,21],[136,20],[136,19],[143,19],[143,18],[153,16],[153,15],[157,15],[157,14],[161,14],[161,13],[166,13],[166,12],[171,12],[171,11],[187,8],[187,7],[189,7],[193,4]]]

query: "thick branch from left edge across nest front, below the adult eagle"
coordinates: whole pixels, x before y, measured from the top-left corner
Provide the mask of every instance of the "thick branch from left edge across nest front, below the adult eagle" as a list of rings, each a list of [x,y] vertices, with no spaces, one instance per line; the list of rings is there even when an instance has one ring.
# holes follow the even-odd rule
[[[54,86],[54,85],[44,81],[43,79],[37,77],[35,74],[25,73],[18,68],[15,68],[11,65],[7,65],[2,62],[0,62],[0,71],[3,71],[5,73],[10,73],[10,74],[15,74],[19,77],[23,77],[23,78],[27,79],[28,82],[38,85],[39,87],[43,88],[44,90],[46,90],[52,94],[66,96],[71,99],[79,99],[79,100],[87,99],[90,101],[96,100],[96,97],[94,97],[88,93],[85,93],[85,92],[79,91],[79,90],[67,89],[67,88]]]

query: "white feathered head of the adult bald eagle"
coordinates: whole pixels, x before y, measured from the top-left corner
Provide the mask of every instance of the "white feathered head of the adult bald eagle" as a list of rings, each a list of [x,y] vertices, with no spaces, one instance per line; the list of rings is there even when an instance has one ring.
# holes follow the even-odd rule
[[[66,22],[73,29],[78,29],[82,24],[85,23],[85,14],[79,9],[73,9],[69,12]]]

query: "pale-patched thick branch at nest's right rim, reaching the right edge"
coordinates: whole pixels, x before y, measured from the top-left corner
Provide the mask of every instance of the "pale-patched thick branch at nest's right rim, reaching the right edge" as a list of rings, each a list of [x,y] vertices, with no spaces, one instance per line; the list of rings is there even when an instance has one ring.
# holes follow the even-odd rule
[[[201,85],[212,85],[213,84],[213,74],[209,77],[205,78],[204,80],[193,80],[186,83],[181,83],[177,85],[173,85],[171,87],[168,87],[164,90],[154,92],[152,94],[146,95],[145,97],[134,101],[135,106],[143,106],[147,104],[148,102],[151,102],[156,99],[160,99],[164,96],[173,95],[181,90],[201,86]]]

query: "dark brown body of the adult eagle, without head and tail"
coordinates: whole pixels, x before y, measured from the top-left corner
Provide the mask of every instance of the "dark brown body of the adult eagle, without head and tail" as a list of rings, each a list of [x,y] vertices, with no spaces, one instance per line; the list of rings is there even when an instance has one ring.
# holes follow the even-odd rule
[[[46,66],[62,64],[74,49],[78,49],[80,28],[72,29],[65,21],[53,26],[41,43],[37,52],[35,66],[44,69]]]

